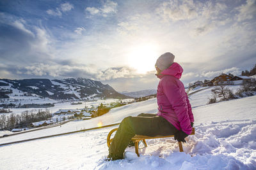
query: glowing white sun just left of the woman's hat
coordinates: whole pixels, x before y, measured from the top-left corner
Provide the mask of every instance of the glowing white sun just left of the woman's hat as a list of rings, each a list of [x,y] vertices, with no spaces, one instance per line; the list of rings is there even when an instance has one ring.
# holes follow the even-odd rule
[[[147,71],[153,71],[155,69],[158,55],[157,45],[149,43],[134,45],[130,48],[127,55],[127,64],[136,69],[138,73],[145,74]]]

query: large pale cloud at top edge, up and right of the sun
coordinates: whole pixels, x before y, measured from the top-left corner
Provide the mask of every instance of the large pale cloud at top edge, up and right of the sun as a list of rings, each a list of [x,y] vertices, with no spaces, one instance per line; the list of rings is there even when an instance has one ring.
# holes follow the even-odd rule
[[[227,4],[214,1],[174,1],[161,3],[155,13],[166,23],[184,22],[193,36],[207,34],[230,22]]]

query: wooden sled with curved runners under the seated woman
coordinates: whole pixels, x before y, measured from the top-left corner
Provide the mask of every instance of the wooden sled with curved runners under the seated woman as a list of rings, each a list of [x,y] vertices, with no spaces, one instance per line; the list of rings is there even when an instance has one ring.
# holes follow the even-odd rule
[[[111,134],[113,134],[113,132],[117,131],[118,128],[115,128],[115,129],[112,129],[109,134],[108,134],[108,138],[107,138],[107,144],[108,144],[108,147],[110,146],[110,143],[112,142],[113,138],[111,138]],[[192,132],[190,135],[194,135],[195,134],[195,128],[193,127],[192,129]],[[145,146],[147,146],[147,143],[145,141],[145,139],[157,139],[157,138],[170,138],[170,137],[174,137],[174,135],[170,135],[170,136],[144,136],[144,135],[135,135],[132,137],[132,141],[134,141],[135,143],[135,152],[137,153],[138,157],[140,157],[140,154],[139,154],[139,147],[138,147],[138,143],[142,140],[143,143],[145,144]],[[183,148],[182,148],[182,143],[181,142],[178,142],[179,143],[179,149],[180,149],[180,152],[183,152]]]

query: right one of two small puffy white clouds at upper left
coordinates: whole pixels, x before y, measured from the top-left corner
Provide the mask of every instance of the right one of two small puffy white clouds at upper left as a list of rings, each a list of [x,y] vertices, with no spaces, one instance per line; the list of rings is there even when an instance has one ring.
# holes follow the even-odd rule
[[[87,7],[85,8],[85,11],[88,11],[91,15],[101,15],[103,17],[108,17],[109,14],[117,12],[117,3],[107,0],[102,4],[102,7]]]

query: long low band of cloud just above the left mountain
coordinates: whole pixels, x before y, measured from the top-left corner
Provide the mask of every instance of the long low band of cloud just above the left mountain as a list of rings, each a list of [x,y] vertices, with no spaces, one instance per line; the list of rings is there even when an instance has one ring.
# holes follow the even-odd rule
[[[33,62],[29,64],[29,66],[16,67],[13,67],[12,64],[9,64],[8,66],[0,65],[0,70],[5,71],[6,74],[18,74],[22,77],[83,77],[99,81],[140,77],[140,75],[135,73],[134,69],[129,67],[109,67],[102,71],[97,67],[76,64],[70,61],[47,61],[45,63]]]

